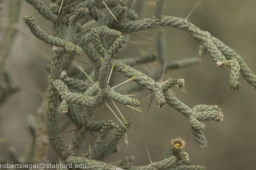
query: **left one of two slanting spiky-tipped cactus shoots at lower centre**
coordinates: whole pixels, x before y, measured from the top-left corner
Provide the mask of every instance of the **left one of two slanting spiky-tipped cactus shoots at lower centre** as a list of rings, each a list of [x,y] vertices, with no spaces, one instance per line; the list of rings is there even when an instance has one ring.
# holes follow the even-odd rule
[[[103,148],[103,142],[104,142],[104,139],[106,138],[107,134],[109,133],[109,130],[110,128],[112,127],[112,120],[109,119],[107,120],[104,125],[102,126],[101,130],[100,130],[100,135],[98,136],[98,138],[96,139],[95,141],[95,144],[94,144],[94,149],[95,149],[95,152],[97,153],[97,155],[100,155],[100,152]],[[90,155],[89,155],[89,159],[94,159],[94,160],[97,160],[97,155],[95,152],[92,152]]]

